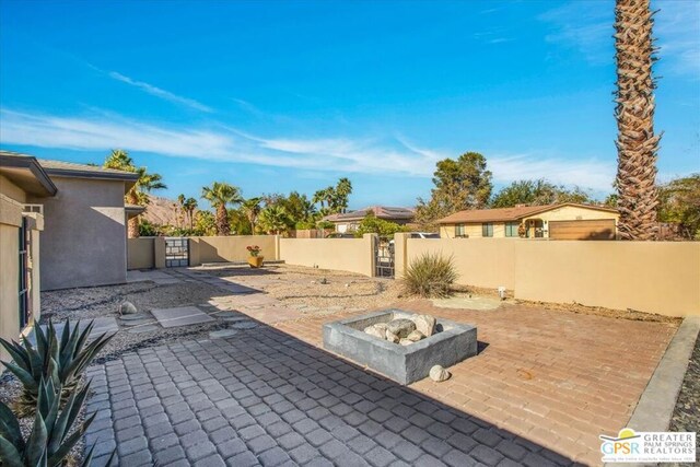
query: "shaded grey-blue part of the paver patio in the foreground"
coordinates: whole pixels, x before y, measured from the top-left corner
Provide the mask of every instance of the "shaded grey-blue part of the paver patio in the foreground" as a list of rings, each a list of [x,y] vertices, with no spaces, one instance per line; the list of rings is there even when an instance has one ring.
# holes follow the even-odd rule
[[[571,460],[267,326],[91,366],[86,434],[120,465],[508,465]]]

